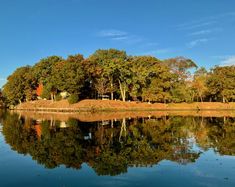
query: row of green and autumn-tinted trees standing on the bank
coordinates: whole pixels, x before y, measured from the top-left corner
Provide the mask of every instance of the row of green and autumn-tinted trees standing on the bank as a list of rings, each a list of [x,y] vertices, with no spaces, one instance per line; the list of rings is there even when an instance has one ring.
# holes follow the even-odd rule
[[[38,97],[60,100],[60,93],[67,92],[71,103],[103,96],[162,103],[232,102],[234,88],[235,66],[207,71],[184,57],[160,60],[100,49],[88,58],[81,54],[66,59],[49,56],[16,69],[3,86],[1,100],[8,105]]]

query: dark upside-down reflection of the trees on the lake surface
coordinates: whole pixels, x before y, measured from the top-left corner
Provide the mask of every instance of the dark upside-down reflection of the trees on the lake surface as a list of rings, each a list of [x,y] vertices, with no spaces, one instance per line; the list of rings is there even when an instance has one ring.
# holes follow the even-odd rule
[[[87,163],[98,175],[118,175],[129,167],[152,166],[162,160],[192,163],[209,148],[235,155],[234,118],[164,116],[81,122],[0,115],[2,133],[11,148],[31,155],[46,168],[80,169]]]

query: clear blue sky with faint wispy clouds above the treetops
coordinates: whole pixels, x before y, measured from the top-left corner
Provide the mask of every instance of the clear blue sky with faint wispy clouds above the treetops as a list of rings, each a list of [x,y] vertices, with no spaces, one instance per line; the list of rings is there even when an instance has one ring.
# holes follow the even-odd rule
[[[99,48],[235,64],[235,1],[0,0],[0,87],[17,67]]]

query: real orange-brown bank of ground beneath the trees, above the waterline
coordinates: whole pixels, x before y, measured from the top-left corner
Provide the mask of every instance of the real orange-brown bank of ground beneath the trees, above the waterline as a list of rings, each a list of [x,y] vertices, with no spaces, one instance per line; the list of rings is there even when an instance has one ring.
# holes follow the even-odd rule
[[[79,111],[151,111],[151,110],[235,110],[235,103],[142,103],[122,102],[111,100],[82,100],[76,104],[69,104],[67,100],[48,101],[38,100],[22,103],[16,110],[53,111],[53,112],[79,112]]]

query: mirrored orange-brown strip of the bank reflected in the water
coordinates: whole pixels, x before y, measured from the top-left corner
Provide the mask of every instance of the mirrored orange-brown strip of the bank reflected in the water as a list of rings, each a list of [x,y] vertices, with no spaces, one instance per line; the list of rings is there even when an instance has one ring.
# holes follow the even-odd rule
[[[13,111],[15,112],[15,111]],[[94,122],[104,120],[120,120],[123,118],[162,118],[165,116],[192,116],[192,117],[235,117],[235,111],[123,111],[123,112],[34,112],[34,111],[16,111],[20,116],[25,118],[40,120],[59,120],[68,121],[69,119],[77,119],[83,122]]]

